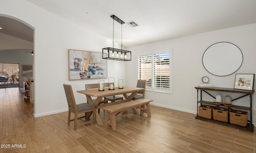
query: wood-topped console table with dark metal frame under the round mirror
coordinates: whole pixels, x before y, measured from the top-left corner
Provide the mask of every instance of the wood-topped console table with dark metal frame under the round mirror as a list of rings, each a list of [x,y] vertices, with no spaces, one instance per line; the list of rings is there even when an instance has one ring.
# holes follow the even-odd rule
[[[253,132],[254,125],[252,124],[252,94],[254,93],[254,90],[250,91],[250,90],[238,90],[238,89],[234,89],[234,88],[218,88],[218,87],[206,88],[206,87],[200,87],[200,86],[196,86],[195,88],[197,90],[197,114],[196,114],[196,117],[195,117],[196,119],[204,120],[204,121],[208,121],[208,122],[212,122],[212,123],[221,124],[221,125],[224,125],[224,126],[229,126],[229,127],[232,127],[232,128],[238,128],[238,129],[243,129],[245,131]],[[198,90],[200,90],[200,100],[198,98]],[[247,126],[246,127],[238,126],[238,125],[235,125],[235,124],[230,124],[230,123],[221,122],[221,121],[217,121],[217,120],[213,120],[213,119],[208,119],[208,118],[202,118],[202,117],[198,116],[198,103],[200,103],[200,104],[210,104],[210,105],[213,105],[213,106],[218,106],[218,105],[212,104],[212,102],[202,100],[202,91],[204,91],[206,94],[210,95],[214,99],[215,99],[215,97],[212,96],[209,93],[209,91],[232,92],[232,93],[243,94],[242,96],[240,96],[238,98],[232,99],[232,101],[238,100],[238,99],[243,98],[245,96],[250,96],[250,107],[238,106],[238,105],[233,105],[232,107],[221,106],[221,107],[227,107],[227,108],[232,108],[232,109],[235,108],[235,109],[238,109],[238,110],[249,110],[250,111],[250,121],[248,121],[249,123],[247,124]]]

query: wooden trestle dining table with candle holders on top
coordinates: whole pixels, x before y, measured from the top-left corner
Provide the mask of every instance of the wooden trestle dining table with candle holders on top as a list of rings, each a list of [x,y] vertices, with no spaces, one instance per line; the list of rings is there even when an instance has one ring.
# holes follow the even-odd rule
[[[105,107],[105,106],[120,104],[120,103],[123,103],[123,102],[129,102],[129,101],[132,100],[132,98],[140,90],[144,90],[144,88],[124,86],[122,89],[119,89],[117,87],[114,90],[108,90],[108,88],[105,88],[104,91],[99,91],[98,89],[91,89],[91,90],[78,90],[76,92],[81,93],[81,94],[85,94],[88,103],[94,105],[95,108],[98,109],[98,108],[102,108],[102,107]],[[100,104],[100,100],[102,100],[102,98],[104,98],[104,97],[116,96],[116,95],[121,95],[121,94],[124,95],[124,98],[125,98],[124,100],[120,100],[120,101],[117,101],[117,102],[111,102],[111,103],[107,103],[107,104]],[[130,96],[128,96],[128,94],[130,94]],[[97,97],[94,102],[92,101],[92,97]],[[133,111],[135,113],[138,113],[138,112],[136,112],[135,109],[133,109]],[[98,112],[96,112],[96,122],[100,126],[104,125],[101,118],[100,118],[100,114]]]

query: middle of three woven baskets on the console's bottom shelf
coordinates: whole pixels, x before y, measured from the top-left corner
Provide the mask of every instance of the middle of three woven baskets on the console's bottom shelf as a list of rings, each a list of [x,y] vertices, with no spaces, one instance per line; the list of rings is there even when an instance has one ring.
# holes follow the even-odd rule
[[[229,109],[228,108],[222,108],[222,107],[215,107],[212,110],[212,117],[214,120],[222,121],[222,122],[228,122],[228,114]]]

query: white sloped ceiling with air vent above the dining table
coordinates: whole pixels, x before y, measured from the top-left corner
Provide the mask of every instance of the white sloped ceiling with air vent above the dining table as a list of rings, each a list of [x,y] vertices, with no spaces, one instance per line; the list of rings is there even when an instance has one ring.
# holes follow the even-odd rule
[[[256,23],[256,0],[27,0],[125,47]],[[0,20],[1,23],[1,20]],[[1,25],[0,25],[1,26]],[[1,32],[1,30],[0,30]],[[114,21],[114,42],[121,24]]]

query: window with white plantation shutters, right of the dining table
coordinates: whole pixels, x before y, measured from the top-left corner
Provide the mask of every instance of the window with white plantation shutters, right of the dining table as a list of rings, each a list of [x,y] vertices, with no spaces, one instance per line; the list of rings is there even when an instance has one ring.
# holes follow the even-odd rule
[[[172,92],[170,59],[170,52],[139,56],[139,79],[147,80],[147,90]]]

